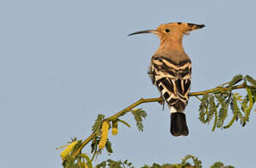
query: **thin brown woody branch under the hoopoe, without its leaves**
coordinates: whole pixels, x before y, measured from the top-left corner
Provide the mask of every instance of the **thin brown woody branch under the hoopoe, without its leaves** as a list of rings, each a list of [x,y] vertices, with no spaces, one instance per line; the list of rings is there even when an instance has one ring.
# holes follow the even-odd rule
[[[241,85],[233,86],[232,88],[218,86],[216,88],[208,89],[206,91],[192,92],[192,93],[189,94],[189,96],[200,96],[200,95],[206,95],[208,93],[214,93],[214,92],[217,92],[217,91],[222,92],[222,91],[228,91],[229,89],[236,90],[236,89],[241,89],[241,88],[255,88],[256,89],[255,86],[246,85],[246,83],[243,83]],[[105,118],[105,121],[115,121],[117,118],[125,115],[127,112],[130,112],[134,107],[137,107],[140,104],[148,103],[148,102],[159,102],[160,103],[162,101],[164,101],[164,99],[162,99],[162,97],[151,98],[151,99],[141,98],[137,102],[135,102],[135,103],[129,105],[128,107],[124,108],[124,110],[121,110],[120,112],[117,112],[116,114],[110,116],[109,118]],[[76,156],[78,156],[78,154],[81,153],[81,150],[83,149],[83,147],[85,147],[94,138],[94,136],[96,136],[96,132],[93,132],[86,140],[84,140],[82,142],[82,144],[80,145],[78,150],[76,150],[75,153],[72,153],[72,157],[75,158]]]

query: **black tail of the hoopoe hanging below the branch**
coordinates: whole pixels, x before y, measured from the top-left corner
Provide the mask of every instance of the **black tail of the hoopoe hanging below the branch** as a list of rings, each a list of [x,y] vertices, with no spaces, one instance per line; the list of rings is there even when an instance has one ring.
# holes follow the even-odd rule
[[[189,129],[187,128],[186,115],[184,112],[171,112],[170,113],[170,133],[173,136],[189,134]]]

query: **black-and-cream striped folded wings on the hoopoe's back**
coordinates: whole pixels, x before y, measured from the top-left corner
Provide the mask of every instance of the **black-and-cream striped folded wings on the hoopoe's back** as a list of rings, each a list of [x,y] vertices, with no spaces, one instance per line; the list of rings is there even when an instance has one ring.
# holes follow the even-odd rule
[[[153,56],[148,74],[170,107],[170,112],[183,112],[189,100],[192,64],[178,63],[163,56]]]

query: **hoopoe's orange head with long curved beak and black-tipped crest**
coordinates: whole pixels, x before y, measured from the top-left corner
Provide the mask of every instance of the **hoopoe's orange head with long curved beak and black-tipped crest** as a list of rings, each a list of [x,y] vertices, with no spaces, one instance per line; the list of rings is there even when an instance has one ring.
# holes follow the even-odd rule
[[[193,23],[167,23],[161,24],[156,30],[136,31],[135,33],[129,34],[132,36],[135,34],[157,34],[161,41],[181,41],[184,34],[189,34],[189,31],[203,28],[205,25],[197,25]]]

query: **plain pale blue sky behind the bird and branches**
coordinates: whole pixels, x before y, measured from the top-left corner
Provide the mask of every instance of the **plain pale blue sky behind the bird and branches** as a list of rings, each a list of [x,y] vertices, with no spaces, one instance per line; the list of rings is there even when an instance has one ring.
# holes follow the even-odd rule
[[[61,167],[57,146],[86,138],[98,113],[106,116],[159,93],[147,75],[159,40],[127,37],[160,23],[204,23],[184,38],[193,63],[192,91],[213,88],[234,75],[255,72],[255,1],[0,1],[0,167]],[[112,159],[136,167],[178,163],[192,154],[209,167],[223,161],[255,167],[256,114],[211,132],[189,100],[188,137],[170,135],[167,107],[143,104],[145,131],[132,115],[110,136]],[[89,152],[89,150],[85,150]],[[97,161],[109,159],[104,153]]]

